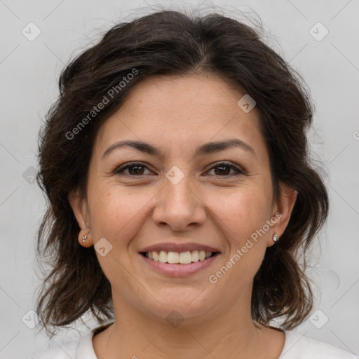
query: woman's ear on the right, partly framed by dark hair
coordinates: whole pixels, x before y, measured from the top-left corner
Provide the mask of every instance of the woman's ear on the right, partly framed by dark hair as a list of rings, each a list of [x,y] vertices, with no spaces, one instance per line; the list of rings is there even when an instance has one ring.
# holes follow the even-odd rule
[[[297,190],[288,186],[287,184],[280,182],[280,198],[278,202],[273,206],[273,215],[271,218],[277,219],[276,224],[271,227],[271,233],[268,238],[267,246],[271,247],[274,244],[273,234],[278,234],[279,238],[287,228],[292,215],[295,202],[297,201]]]

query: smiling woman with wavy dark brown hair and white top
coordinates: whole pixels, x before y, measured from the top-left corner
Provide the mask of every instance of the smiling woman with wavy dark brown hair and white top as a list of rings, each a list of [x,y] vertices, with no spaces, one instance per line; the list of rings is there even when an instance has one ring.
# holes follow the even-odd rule
[[[299,79],[254,29],[175,11],[66,67],[39,148],[37,312],[48,332],[105,324],[36,358],[354,358],[292,331],[328,211]]]

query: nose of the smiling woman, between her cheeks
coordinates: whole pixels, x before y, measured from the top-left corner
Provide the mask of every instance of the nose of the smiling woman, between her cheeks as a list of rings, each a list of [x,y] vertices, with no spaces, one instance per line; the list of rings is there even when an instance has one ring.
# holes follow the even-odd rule
[[[190,182],[189,175],[185,175],[177,184],[165,178],[163,189],[156,196],[152,215],[156,224],[168,224],[173,231],[185,231],[190,225],[205,222],[205,203]]]

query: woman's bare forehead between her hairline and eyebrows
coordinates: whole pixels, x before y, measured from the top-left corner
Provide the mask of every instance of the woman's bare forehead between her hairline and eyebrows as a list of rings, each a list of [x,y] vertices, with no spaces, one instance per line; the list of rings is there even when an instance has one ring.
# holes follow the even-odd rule
[[[119,140],[142,140],[165,151],[183,150],[229,137],[263,147],[257,109],[245,113],[238,107],[243,95],[206,74],[146,79],[105,121],[95,147],[103,152]]]

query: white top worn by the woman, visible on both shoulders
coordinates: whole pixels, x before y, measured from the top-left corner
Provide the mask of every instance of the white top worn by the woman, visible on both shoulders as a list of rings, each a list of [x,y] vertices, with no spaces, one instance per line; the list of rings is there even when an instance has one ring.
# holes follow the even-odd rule
[[[98,359],[92,342],[95,330],[80,339],[62,344],[61,348],[56,346],[31,359]],[[279,359],[358,359],[354,354],[323,341],[304,337],[298,332],[284,330],[284,333],[285,343]]]

